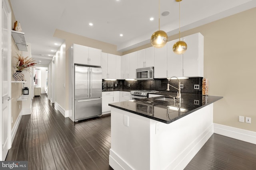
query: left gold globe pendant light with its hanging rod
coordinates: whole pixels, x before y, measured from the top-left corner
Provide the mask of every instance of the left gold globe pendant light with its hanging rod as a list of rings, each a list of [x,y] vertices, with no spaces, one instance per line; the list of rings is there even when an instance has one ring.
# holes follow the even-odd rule
[[[158,12],[159,12],[159,18],[158,18],[158,31],[154,32],[151,36],[151,44],[153,47],[156,48],[162,48],[167,43],[168,36],[166,32],[160,30],[160,0],[158,4]]]

